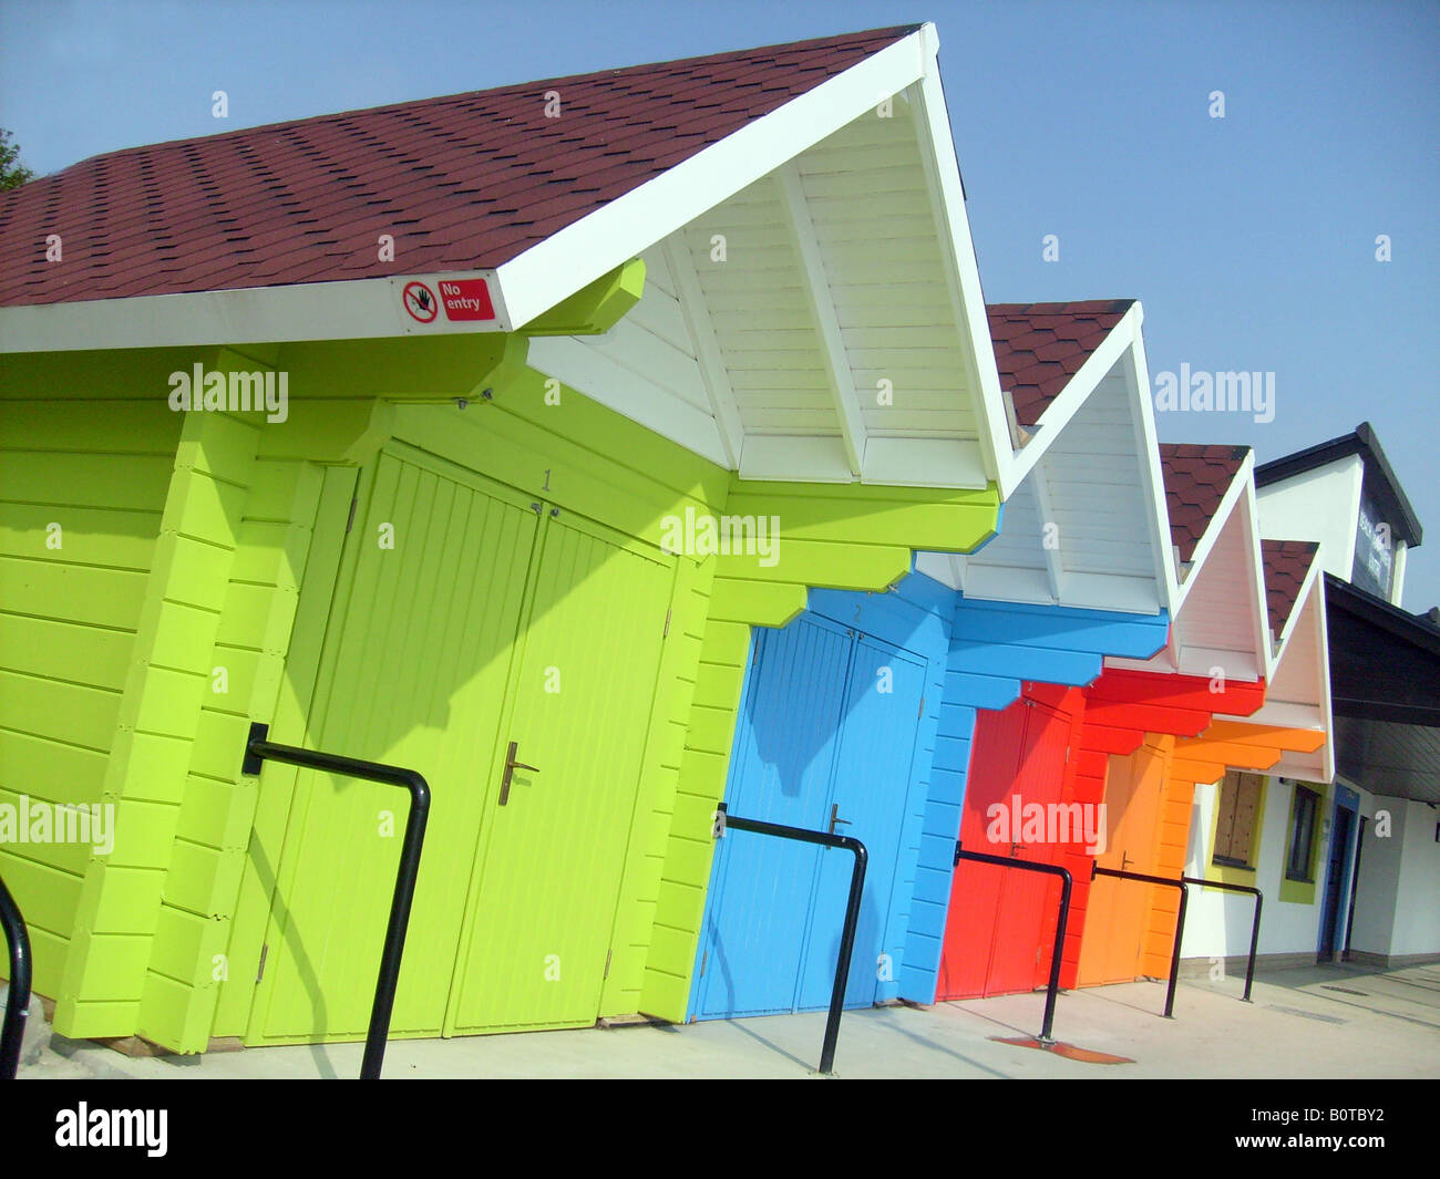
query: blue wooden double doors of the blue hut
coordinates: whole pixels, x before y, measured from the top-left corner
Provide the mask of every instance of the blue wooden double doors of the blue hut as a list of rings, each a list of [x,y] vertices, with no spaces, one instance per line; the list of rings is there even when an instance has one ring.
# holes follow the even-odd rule
[[[818,615],[756,632],[726,802],[864,842],[847,1006],[874,1002],[899,966],[886,939],[924,681],[923,658]],[[711,869],[691,1018],[827,1008],[852,867],[847,851],[730,831]]]

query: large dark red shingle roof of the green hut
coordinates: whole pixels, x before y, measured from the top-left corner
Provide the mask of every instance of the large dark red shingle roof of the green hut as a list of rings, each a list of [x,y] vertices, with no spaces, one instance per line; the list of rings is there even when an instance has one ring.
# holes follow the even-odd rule
[[[0,194],[0,307],[498,266],[917,27],[96,155]]]

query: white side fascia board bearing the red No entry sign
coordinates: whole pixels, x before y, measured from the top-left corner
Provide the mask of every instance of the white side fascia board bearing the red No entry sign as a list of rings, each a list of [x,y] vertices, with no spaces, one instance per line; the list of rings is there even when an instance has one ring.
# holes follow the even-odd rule
[[[405,292],[422,284],[482,279],[494,318],[422,321],[405,310]],[[372,340],[439,333],[510,331],[494,271],[243,286],[183,295],[135,295],[0,308],[0,353],[95,348],[164,348],[298,340]]]

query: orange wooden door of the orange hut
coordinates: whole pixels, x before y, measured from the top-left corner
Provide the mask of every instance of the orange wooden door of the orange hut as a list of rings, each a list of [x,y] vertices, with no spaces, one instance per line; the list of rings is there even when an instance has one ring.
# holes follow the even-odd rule
[[[1161,787],[1166,757],[1142,744],[1128,757],[1110,757],[1104,786],[1106,848],[1096,857],[1102,868],[1156,875]],[[1152,905],[1153,884],[1096,877],[1086,905],[1080,943],[1079,986],[1135,982]]]

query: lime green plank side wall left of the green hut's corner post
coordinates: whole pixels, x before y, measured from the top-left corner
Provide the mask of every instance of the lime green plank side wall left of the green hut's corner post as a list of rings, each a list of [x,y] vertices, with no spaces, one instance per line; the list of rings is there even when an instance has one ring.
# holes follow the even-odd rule
[[[82,370],[59,405],[17,380],[0,400],[0,803],[108,796],[181,428],[160,397],[117,397],[161,369],[138,387]],[[84,844],[0,845],[40,995],[60,990],[92,867]]]

